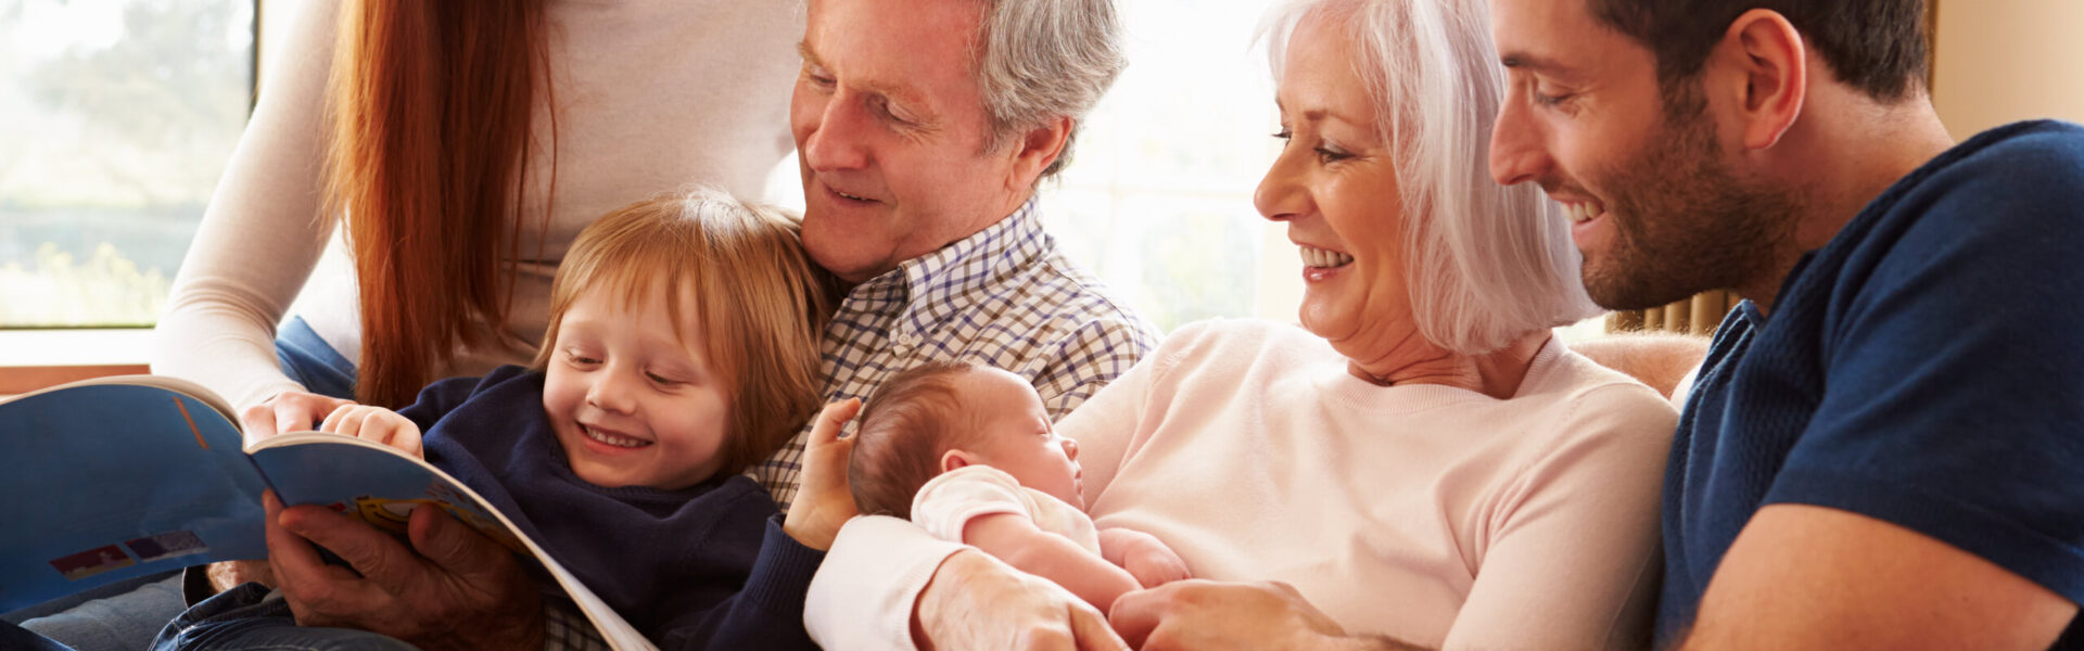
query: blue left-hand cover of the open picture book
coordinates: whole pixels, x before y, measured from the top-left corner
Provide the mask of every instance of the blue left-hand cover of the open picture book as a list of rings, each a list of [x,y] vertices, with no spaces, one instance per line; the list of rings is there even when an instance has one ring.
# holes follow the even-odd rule
[[[8,482],[0,611],[185,565],[267,557],[265,482],[240,451],[240,428],[223,401],[183,384],[98,378],[0,403],[0,478]]]

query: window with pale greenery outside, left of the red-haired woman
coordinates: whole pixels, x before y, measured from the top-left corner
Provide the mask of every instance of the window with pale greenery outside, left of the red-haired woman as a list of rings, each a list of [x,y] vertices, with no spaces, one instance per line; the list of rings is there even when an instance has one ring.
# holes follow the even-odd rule
[[[0,0],[0,328],[150,328],[252,77],[254,0]]]

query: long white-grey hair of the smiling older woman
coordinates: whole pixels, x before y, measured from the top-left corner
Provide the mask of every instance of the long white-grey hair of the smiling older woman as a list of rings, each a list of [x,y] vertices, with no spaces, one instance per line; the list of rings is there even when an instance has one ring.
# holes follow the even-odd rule
[[[1484,0],[1290,0],[1267,13],[1280,86],[1288,40],[1305,19],[1342,21],[1359,50],[1375,131],[1403,190],[1405,278],[1419,334],[1480,355],[1542,328],[1598,313],[1557,202],[1532,184],[1490,179],[1490,131],[1505,71]]]

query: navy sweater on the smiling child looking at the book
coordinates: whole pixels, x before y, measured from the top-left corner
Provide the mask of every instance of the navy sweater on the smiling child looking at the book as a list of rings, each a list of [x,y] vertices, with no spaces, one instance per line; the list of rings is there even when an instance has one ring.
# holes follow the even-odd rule
[[[483,495],[661,649],[817,649],[802,601],[823,551],[782,532],[744,476],[684,490],[579,480],[542,411],[544,376],[498,367],[400,409],[427,461]]]

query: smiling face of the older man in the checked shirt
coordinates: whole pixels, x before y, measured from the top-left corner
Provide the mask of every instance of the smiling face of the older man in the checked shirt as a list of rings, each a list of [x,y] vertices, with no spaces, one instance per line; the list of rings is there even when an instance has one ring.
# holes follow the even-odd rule
[[[790,127],[802,244],[859,284],[1019,209],[971,77],[975,0],[813,0]]]

